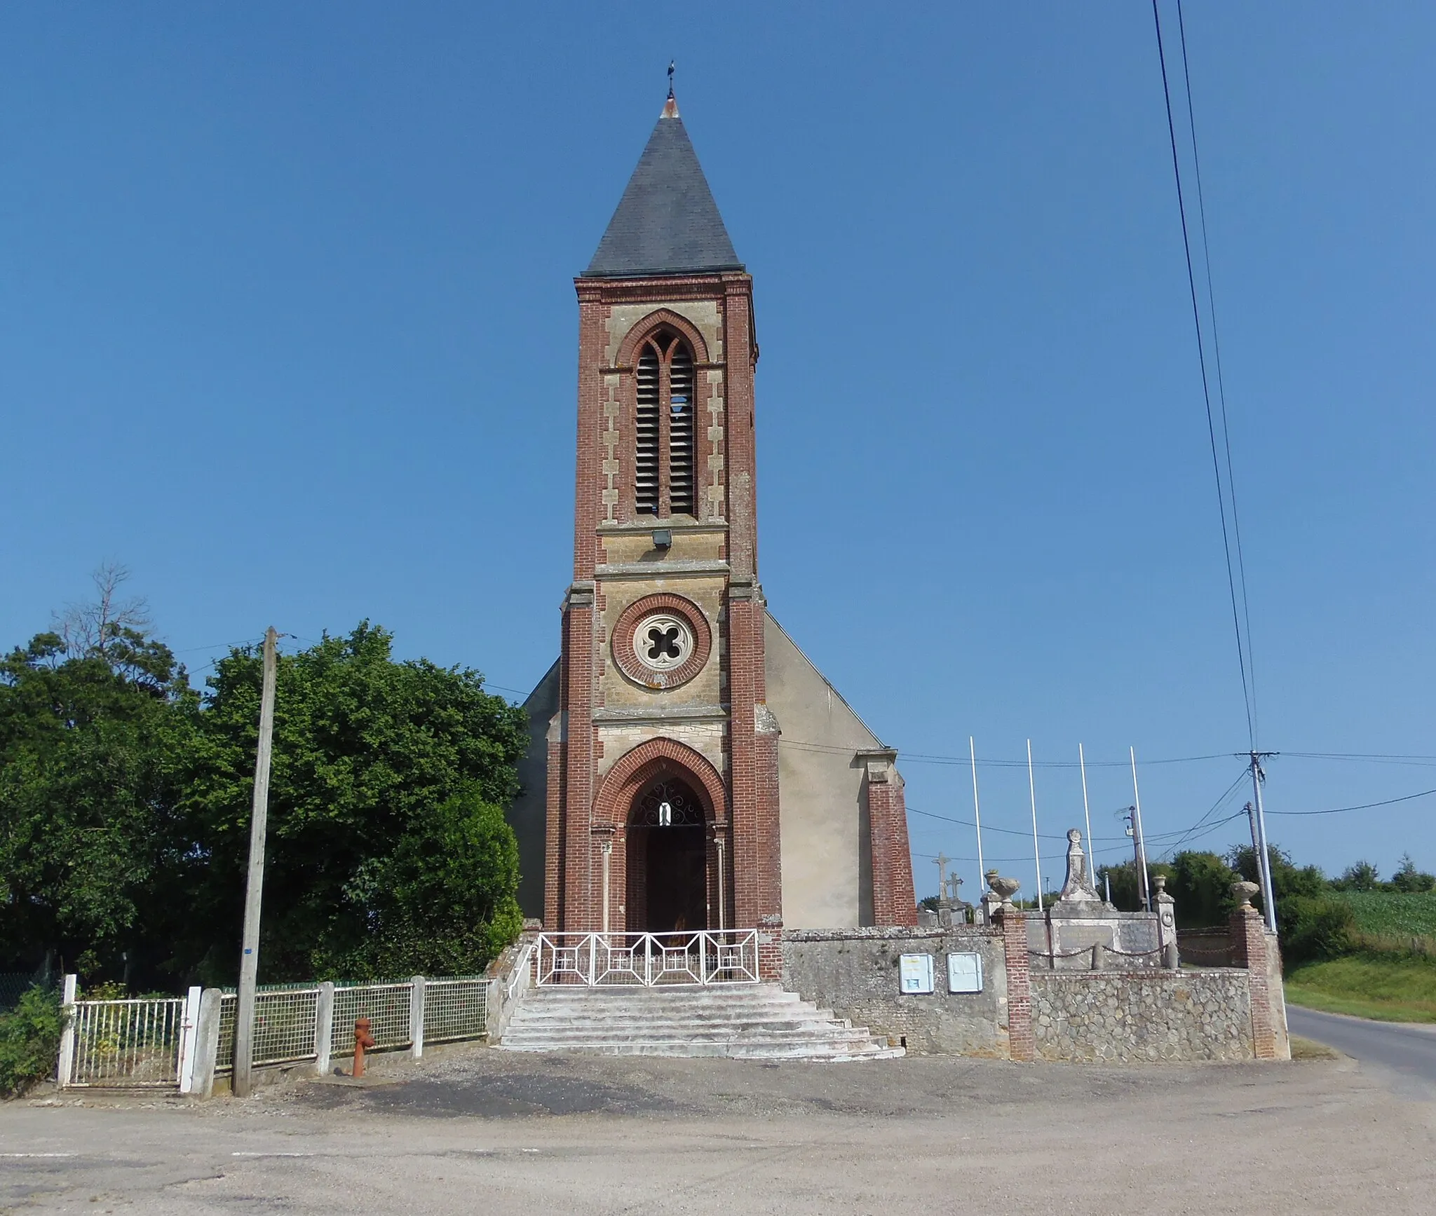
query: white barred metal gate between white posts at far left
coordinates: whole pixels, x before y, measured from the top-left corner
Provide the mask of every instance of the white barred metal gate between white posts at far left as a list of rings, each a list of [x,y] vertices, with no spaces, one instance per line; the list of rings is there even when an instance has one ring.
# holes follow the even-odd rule
[[[60,1082],[184,1088],[192,1070],[198,998],[76,1001]]]

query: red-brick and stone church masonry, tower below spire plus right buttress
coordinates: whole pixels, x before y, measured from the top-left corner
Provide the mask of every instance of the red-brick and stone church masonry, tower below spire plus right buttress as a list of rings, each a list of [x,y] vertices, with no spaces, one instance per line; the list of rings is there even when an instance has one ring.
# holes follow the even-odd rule
[[[780,724],[767,706],[758,581],[752,280],[742,270],[597,277],[590,268],[576,289],[573,581],[549,732],[544,925],[656,927],[646,923],[656,916],[648,892],[623,886],[626,871],[648,874],[630,867],[639,857],[630,844],[651,824],[632,814],[645,790],[681,781],[702,803],[707,926],[758,929],[761,968],[775,978]],[[669,362],[681,347],[689,360],[682,366],[691,366],[681,379],[686,406],[673,396],[678,365]],[[656,372],[645,357],[658,360]],[[648,412],[639,409],[643,366]],[[682,485],[671,455],[682,409],[691,412],[692,513],[673,514],[673,502],[689,501],[671,494],[671,482]],[[652,497],[636,491],[640,469],[656,478],[645,481]],[[648,502],[656,514],[639,513]],[[645,669],[635,649],[635,630],[656,613],[692,626],[692,652],[669,670],[652,662]],[[875,919],[913,925],[902,778],[895,754],[873,755],[866,797]],[[686,857],[698,864],[696,846]]]

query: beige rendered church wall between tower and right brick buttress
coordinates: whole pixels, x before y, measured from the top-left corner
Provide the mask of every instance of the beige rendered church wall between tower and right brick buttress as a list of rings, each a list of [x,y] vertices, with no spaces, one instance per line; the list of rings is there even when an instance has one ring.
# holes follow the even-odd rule
[[[880,748],[882,742],[771,614],[764,626],[764,649],[768,709],[783,731],[783,923],[798,929],[872,925],[866,770],[856,752]]]

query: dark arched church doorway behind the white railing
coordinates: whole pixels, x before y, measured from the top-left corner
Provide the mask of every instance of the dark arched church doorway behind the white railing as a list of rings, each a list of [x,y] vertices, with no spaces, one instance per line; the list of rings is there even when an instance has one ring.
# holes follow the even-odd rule
[[[628,833],[628,927],[648,933],[708,927],[704,807],[686,781],[655,781],[633,800]]]

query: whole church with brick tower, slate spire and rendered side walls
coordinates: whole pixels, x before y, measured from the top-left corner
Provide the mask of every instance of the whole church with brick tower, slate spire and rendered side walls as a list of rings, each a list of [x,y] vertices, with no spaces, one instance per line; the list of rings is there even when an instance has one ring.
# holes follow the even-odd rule
[[[898,754],[763,594],[752,277],[672,90],[574,287],[573,581],[510,813],[524,915],[915,925]]]

